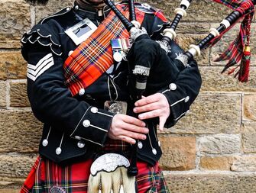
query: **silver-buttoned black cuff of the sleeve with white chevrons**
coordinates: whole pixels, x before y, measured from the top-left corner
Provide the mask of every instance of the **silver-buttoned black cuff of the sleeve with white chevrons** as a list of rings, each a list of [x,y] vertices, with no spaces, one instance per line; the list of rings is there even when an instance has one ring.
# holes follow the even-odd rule
[[[103,146],[114,114],[96,107],[89,107],[70,137]]]

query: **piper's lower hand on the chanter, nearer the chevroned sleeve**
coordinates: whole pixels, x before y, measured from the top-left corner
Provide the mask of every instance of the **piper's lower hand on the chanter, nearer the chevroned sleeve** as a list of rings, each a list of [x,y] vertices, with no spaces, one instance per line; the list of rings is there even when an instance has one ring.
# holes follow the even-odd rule
[[[113,140],[135,144],[136,140],[146,140],[147,133],[148,129],[143,121],[125,114],[115,114],[108,134]]]

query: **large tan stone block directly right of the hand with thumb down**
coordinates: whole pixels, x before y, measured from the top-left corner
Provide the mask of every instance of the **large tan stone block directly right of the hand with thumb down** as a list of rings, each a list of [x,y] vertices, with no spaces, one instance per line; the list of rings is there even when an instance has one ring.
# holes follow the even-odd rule
[[[183,117],[170,129],[171,133],[239,133],[241,95],[201,94]]]

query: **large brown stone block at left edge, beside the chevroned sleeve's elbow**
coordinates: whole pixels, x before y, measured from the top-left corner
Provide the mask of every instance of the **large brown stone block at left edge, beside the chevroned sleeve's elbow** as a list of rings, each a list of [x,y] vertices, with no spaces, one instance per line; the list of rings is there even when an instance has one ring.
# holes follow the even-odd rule
[[[31,111],[0,111],[0,152],[37,152],[42,124]]]

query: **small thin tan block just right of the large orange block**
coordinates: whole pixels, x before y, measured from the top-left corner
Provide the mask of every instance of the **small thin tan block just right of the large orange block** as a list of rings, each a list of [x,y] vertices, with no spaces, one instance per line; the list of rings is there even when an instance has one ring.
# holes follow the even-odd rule
[[[232,156],[203,156],[200,159],[200,169],[229,171],[233,159]]]

